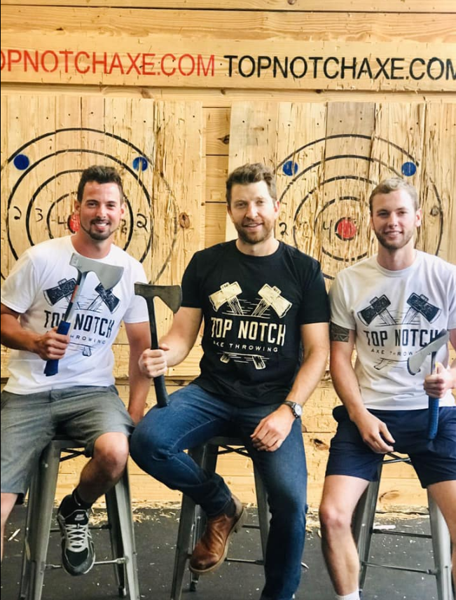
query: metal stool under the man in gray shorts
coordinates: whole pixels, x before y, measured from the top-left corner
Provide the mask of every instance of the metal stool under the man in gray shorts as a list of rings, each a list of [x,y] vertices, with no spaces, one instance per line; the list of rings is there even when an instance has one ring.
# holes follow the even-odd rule
[[[46,564],[49,534],[53,514],[57,475],[61,461],[76,456],[85,456],[81,446],[67,437],[57,436],[41,454],[39,466],[32,477],[25,520],[24,551],[22,554],[22,576],[20,581],[21,600],[41,600],[44,572],[47,568],[61,565]],[[61,456],[64,453],[65,456]],[[139,585],[134,545],[130,487],[125,470],[122,478],[106,493],[106,511],[109,524],[99,528],[109,529],[113,559],[95,564],[113,564],[120,597],[130,596],[139,600]]]

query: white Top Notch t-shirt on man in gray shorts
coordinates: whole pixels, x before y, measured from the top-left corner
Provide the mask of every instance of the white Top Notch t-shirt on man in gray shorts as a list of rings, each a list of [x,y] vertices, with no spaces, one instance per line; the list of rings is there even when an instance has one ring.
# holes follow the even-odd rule
[[[30,247],[13,267],[1,289],[1,301],[20,313],[25,329],[44,333],[63,318],[78,275],[69,264],[74,252],[71,236],[56,238]],[[97,262],[123,266],[122,278],[111,290],[105,290],[97,275],[88,273],[72,319],[71,342],[59,361],[59,372],[47,377],[43,372],[45,362],[39,355],[11,350],[11,376],[5,390],[25,395],[114,383],[111,345],[122,321],[148,321],[146,301],[134,295],[134,282],[147,280],[141,264],[115,245],[107,257]]]

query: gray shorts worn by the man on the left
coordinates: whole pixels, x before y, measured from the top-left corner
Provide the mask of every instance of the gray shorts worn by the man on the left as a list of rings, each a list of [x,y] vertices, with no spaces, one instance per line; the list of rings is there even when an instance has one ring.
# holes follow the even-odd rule
[[[115,386],[81,386],[36,394],[1,393],[1,491],[25,493],[39,457],[56,432],[91,455],[97,437],[121,432],[133,421]]]

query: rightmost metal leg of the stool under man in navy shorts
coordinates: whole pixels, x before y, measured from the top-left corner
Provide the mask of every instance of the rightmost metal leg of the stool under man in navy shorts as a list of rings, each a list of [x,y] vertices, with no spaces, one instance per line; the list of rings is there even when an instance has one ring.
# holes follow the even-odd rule
[[[429,503],[429,521],[431,523],[432,547],[436,566],[438,600],[453,600],[451,582],[451,544],[450,533],[434,498],[427,494]]]

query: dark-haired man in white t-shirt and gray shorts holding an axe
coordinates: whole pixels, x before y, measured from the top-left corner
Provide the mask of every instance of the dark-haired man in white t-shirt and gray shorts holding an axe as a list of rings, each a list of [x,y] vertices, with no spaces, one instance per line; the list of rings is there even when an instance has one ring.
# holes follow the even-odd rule
[[[62,562],[71,575],[87,573],[95,561],[88,528],[92,503],[120,479],[127,463],[128,439],[144,414],[150,380],[138,367],[150,346],[144,299],[134,282],[146,281],[141,264],[113,236],[125,214],[122,180],[109,167],[82,172],[74,236],[29,248],[1,289],[1,343],[12,348],[10,377],[1,394],[1,554],[4,527],[18,496],[26,493],[39,456],[56,432],[85,446],[91,456],[72,494],[57,513]],[[123,267],[112,289],[88,273],[68,334],[57,333],[76,284],[72,254]],[[113,352],[120,323],[130,344],[128,410],[118,397]],[[44,374],[47,360],[58,373]]]

